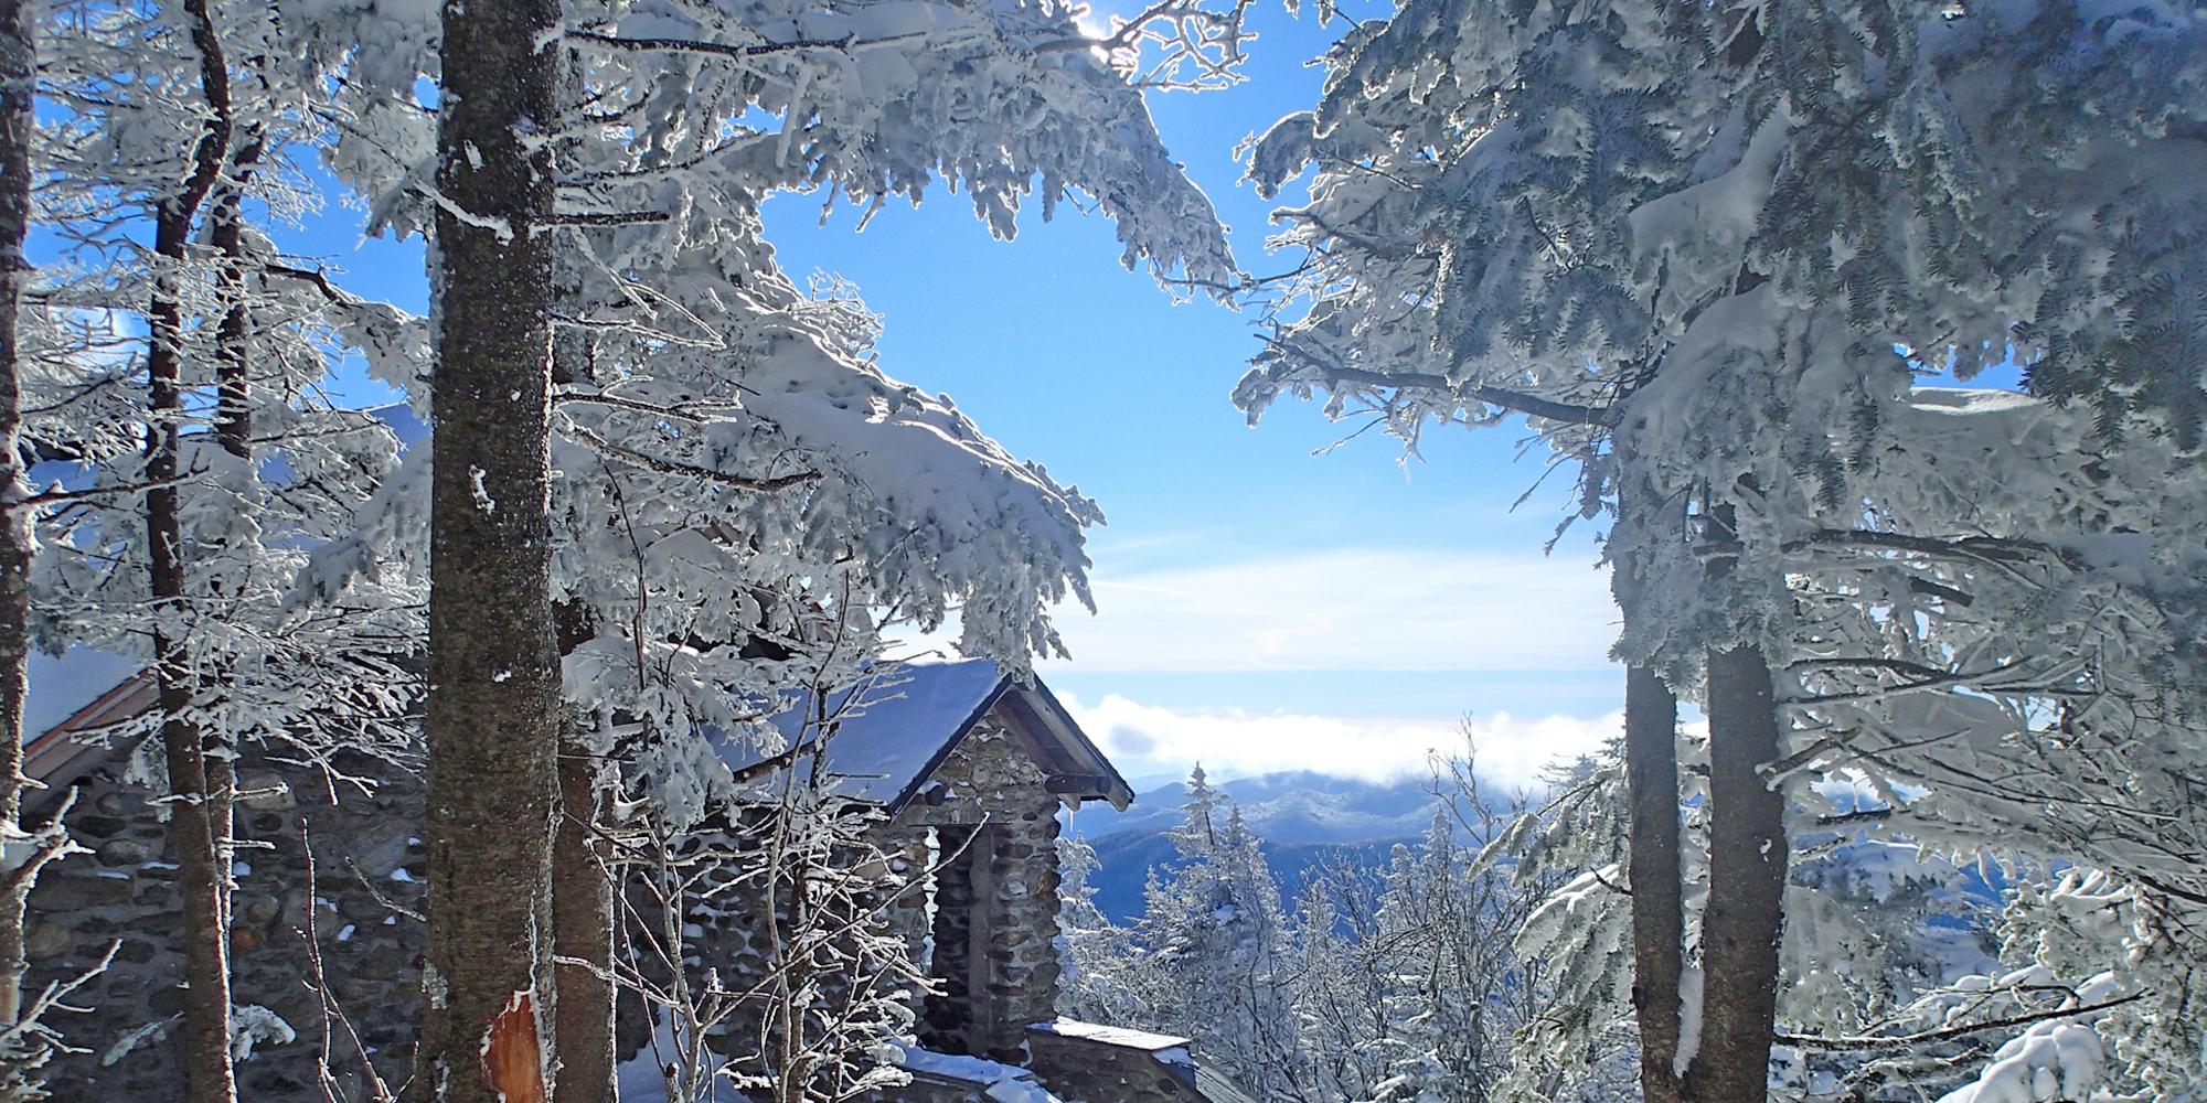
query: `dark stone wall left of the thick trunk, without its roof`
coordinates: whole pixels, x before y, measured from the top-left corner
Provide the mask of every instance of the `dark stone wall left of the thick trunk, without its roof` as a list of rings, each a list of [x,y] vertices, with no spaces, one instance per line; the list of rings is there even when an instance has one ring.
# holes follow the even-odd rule
[[[247,754],[236,810],[236,896],[232,898],[232,1002],[263,1006],[296,1035],[260,1037],[238,1065],[243,1099],[318,1099],[316,1063],[322,1004],[307,988],[307,863],[300,823],[313,843],[313,922],[322,971],[391,1083],[413,1061],[413,1017],[422,977],[422,882],[413,832],[422,785],[399,774],[375,794],[333,785],[318,770]],[[369,763],[344,763],[369,772]],[[66,1041],[88,1050],[49,1065],[57,1101],[166,1103],[181,1099],[172,1032],[183,1006],[183,955],[177,949],[174,860],[168,832],[146,790],[124,781],[124,754],[77,781],[71,829],[93,854],[49,867],[31,893],[31,984],[73,977],[113,944],[115,962],[84,986],[77,1006],[55,1015]],[[53,794],[49,794],[51,801]],[[51,803],[46,805],[51,807]],[[333,1046],[340,1081],[360,1077],[346,1041]]]

